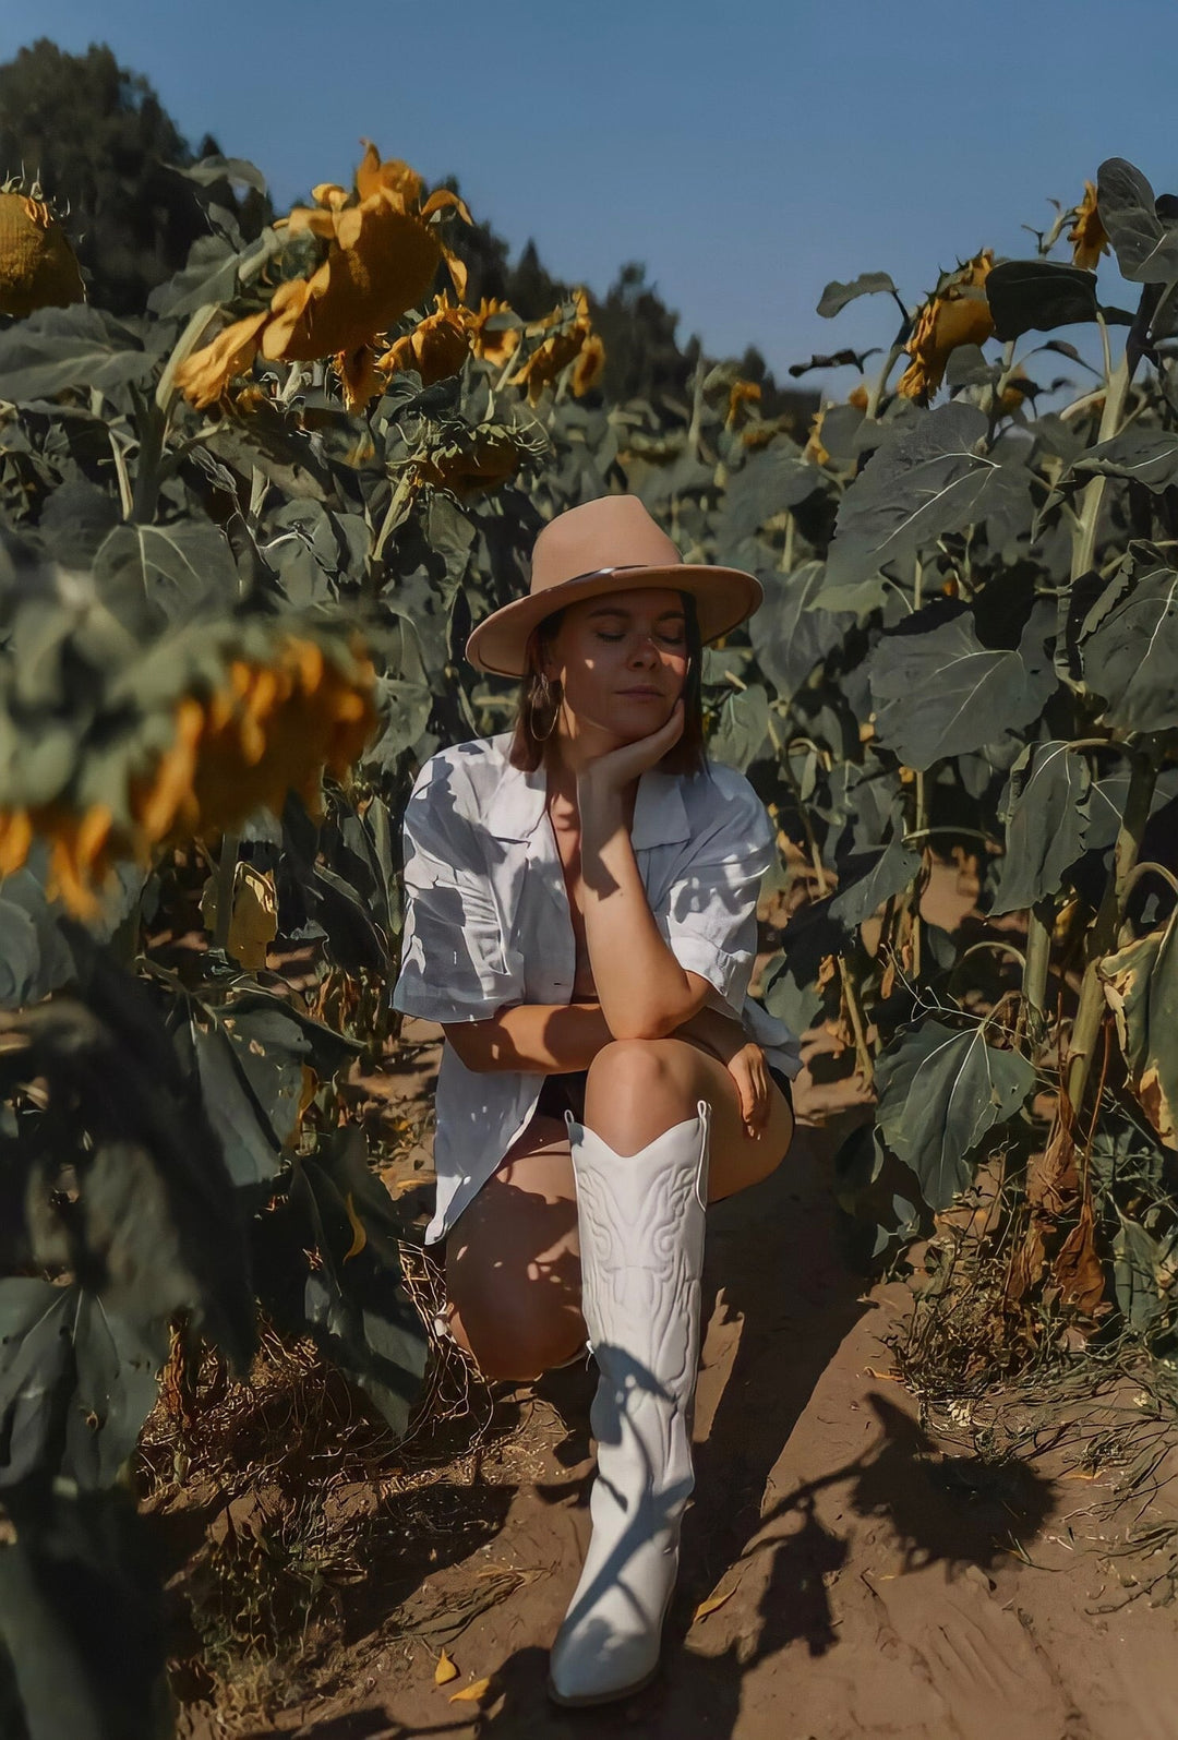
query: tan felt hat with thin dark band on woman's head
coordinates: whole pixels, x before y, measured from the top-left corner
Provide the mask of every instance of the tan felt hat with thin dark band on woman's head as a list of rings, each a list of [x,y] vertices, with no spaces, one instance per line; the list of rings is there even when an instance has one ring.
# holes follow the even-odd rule
[[[527,637],[545,616],[632,586],[689,592],[705,642],[743,623],[764,597],[760,581],[738,567],[684,562],[637,496],[600,496],[548,520],[532,548],[531,592],[479,623],[466,658],[496,677],[522,677]]]

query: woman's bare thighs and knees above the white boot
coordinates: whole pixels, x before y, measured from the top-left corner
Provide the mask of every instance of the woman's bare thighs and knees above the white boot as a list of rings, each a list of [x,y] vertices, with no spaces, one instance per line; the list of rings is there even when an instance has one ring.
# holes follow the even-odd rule
[[[759,1183],[781,1162],[793,1115],[773,1082],[769,1117],[748,1136],[736,1084],[686,1039],[625,1039],[588,1072],[585,1122],[619,1154],[712,1107],[708,1201]],[[564,1124],[536,1117],[465,1209],[445,1244],[451,1328],[489,1378],[527,1380],[585,1342],[576,1180]]]

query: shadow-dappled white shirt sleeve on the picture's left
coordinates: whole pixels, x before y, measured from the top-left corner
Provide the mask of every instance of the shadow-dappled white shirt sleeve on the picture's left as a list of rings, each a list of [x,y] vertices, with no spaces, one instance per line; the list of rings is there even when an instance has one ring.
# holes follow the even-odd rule
[[[505,947],[459,781],[449,762],[426,762],[402,825],[405,924],[393,1007],[442,1023],[485,1021],[522,997],[524,962]]]

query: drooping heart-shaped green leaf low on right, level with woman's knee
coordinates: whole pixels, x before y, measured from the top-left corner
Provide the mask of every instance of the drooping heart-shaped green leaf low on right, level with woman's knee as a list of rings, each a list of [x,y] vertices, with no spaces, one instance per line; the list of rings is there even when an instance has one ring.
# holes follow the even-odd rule
[[[875,1065],[879,1126],[929,1208],[948,1208],[966,1188],[974,1148],[1018,1112],[1034,1084],[1027,1058],[988,1046],[981,1027],[922,1021],[893,1041]]]

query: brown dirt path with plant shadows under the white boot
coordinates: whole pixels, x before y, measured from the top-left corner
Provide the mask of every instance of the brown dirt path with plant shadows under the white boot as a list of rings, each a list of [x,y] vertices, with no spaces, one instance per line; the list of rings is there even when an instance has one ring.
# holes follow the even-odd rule
[[[1094,1611],[1124,1599],[1091,1526],[1115,1476],[987,1469],[926,1436],[880,1345],[912,1295],[863,1293],[846,1267],[832,1145],[802,1128],[710,1215],[698,1488],[659,1683],[600,1714],[545,1698],[588,1522],[593,1375],[574,1368],[503,1392],[517,1429],[430,1488],[438,1568],[390,1587],[334,1696],[254,1740],[1171,1740],[1178,1610]],[[438,1688],[442,1646],[458,1677]]]

